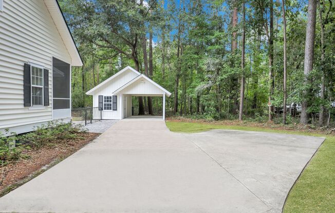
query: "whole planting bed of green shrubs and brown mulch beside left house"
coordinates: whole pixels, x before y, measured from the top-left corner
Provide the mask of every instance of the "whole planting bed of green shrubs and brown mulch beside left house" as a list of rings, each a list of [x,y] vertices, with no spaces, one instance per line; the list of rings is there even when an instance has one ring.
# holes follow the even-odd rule
[[[33,132],[23,135],[7,130],[6,135],[0,135],[0,195],[40,174],[45,165],[78,151],[98,135],[88,133],[82,125],[56,121],[36,126]]]

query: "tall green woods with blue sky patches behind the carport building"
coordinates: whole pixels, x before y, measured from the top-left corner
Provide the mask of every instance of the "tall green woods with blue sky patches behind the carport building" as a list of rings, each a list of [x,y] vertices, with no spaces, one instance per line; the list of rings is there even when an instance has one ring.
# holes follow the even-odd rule
[[[84,60],[72,69],[73,108],[91,106],[85,92],[129,65],[173,93],[170,114],[333,120],[332,0],[59,2]],[[139,114],[159,104],[139,97]]]

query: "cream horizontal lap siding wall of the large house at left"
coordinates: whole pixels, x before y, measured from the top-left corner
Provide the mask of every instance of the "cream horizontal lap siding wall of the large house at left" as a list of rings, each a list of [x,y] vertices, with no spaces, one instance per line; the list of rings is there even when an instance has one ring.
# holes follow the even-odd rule
[[[71,64],[44,1],[4,0],[0,11],[0,131],[52,119],[52,56]],[[24,107],[23,69],[28,61],[49,70],[50,105],[45,109]]]

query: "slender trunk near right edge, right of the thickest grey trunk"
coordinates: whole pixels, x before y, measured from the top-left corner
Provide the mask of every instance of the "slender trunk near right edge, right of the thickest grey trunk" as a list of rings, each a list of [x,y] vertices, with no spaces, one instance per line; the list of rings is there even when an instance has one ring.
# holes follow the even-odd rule
[[[319,112],[319,125],[322,126],[324,123],[324,117],[325,117],[325,106],[323,101],[325,100],[325,24],[323,22],[322,18],[322,11],[323,11],[323,5],[321,7],[320,1],[318,1],[319,4],[319,18],[320,18],[320,33],[321,33],[321,91],[320,91],[320,98],[321,98],[321,105],[320,105],[320,112]]]

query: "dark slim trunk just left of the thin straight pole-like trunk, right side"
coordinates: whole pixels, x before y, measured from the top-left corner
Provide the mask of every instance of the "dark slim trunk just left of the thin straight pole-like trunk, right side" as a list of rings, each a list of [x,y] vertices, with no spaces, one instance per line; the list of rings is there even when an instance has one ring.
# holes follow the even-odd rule
[[[273,80],[273,2],[270,1],[270,36],[269,36],[269,121],[273,119],[272,95],[274,88]]]

